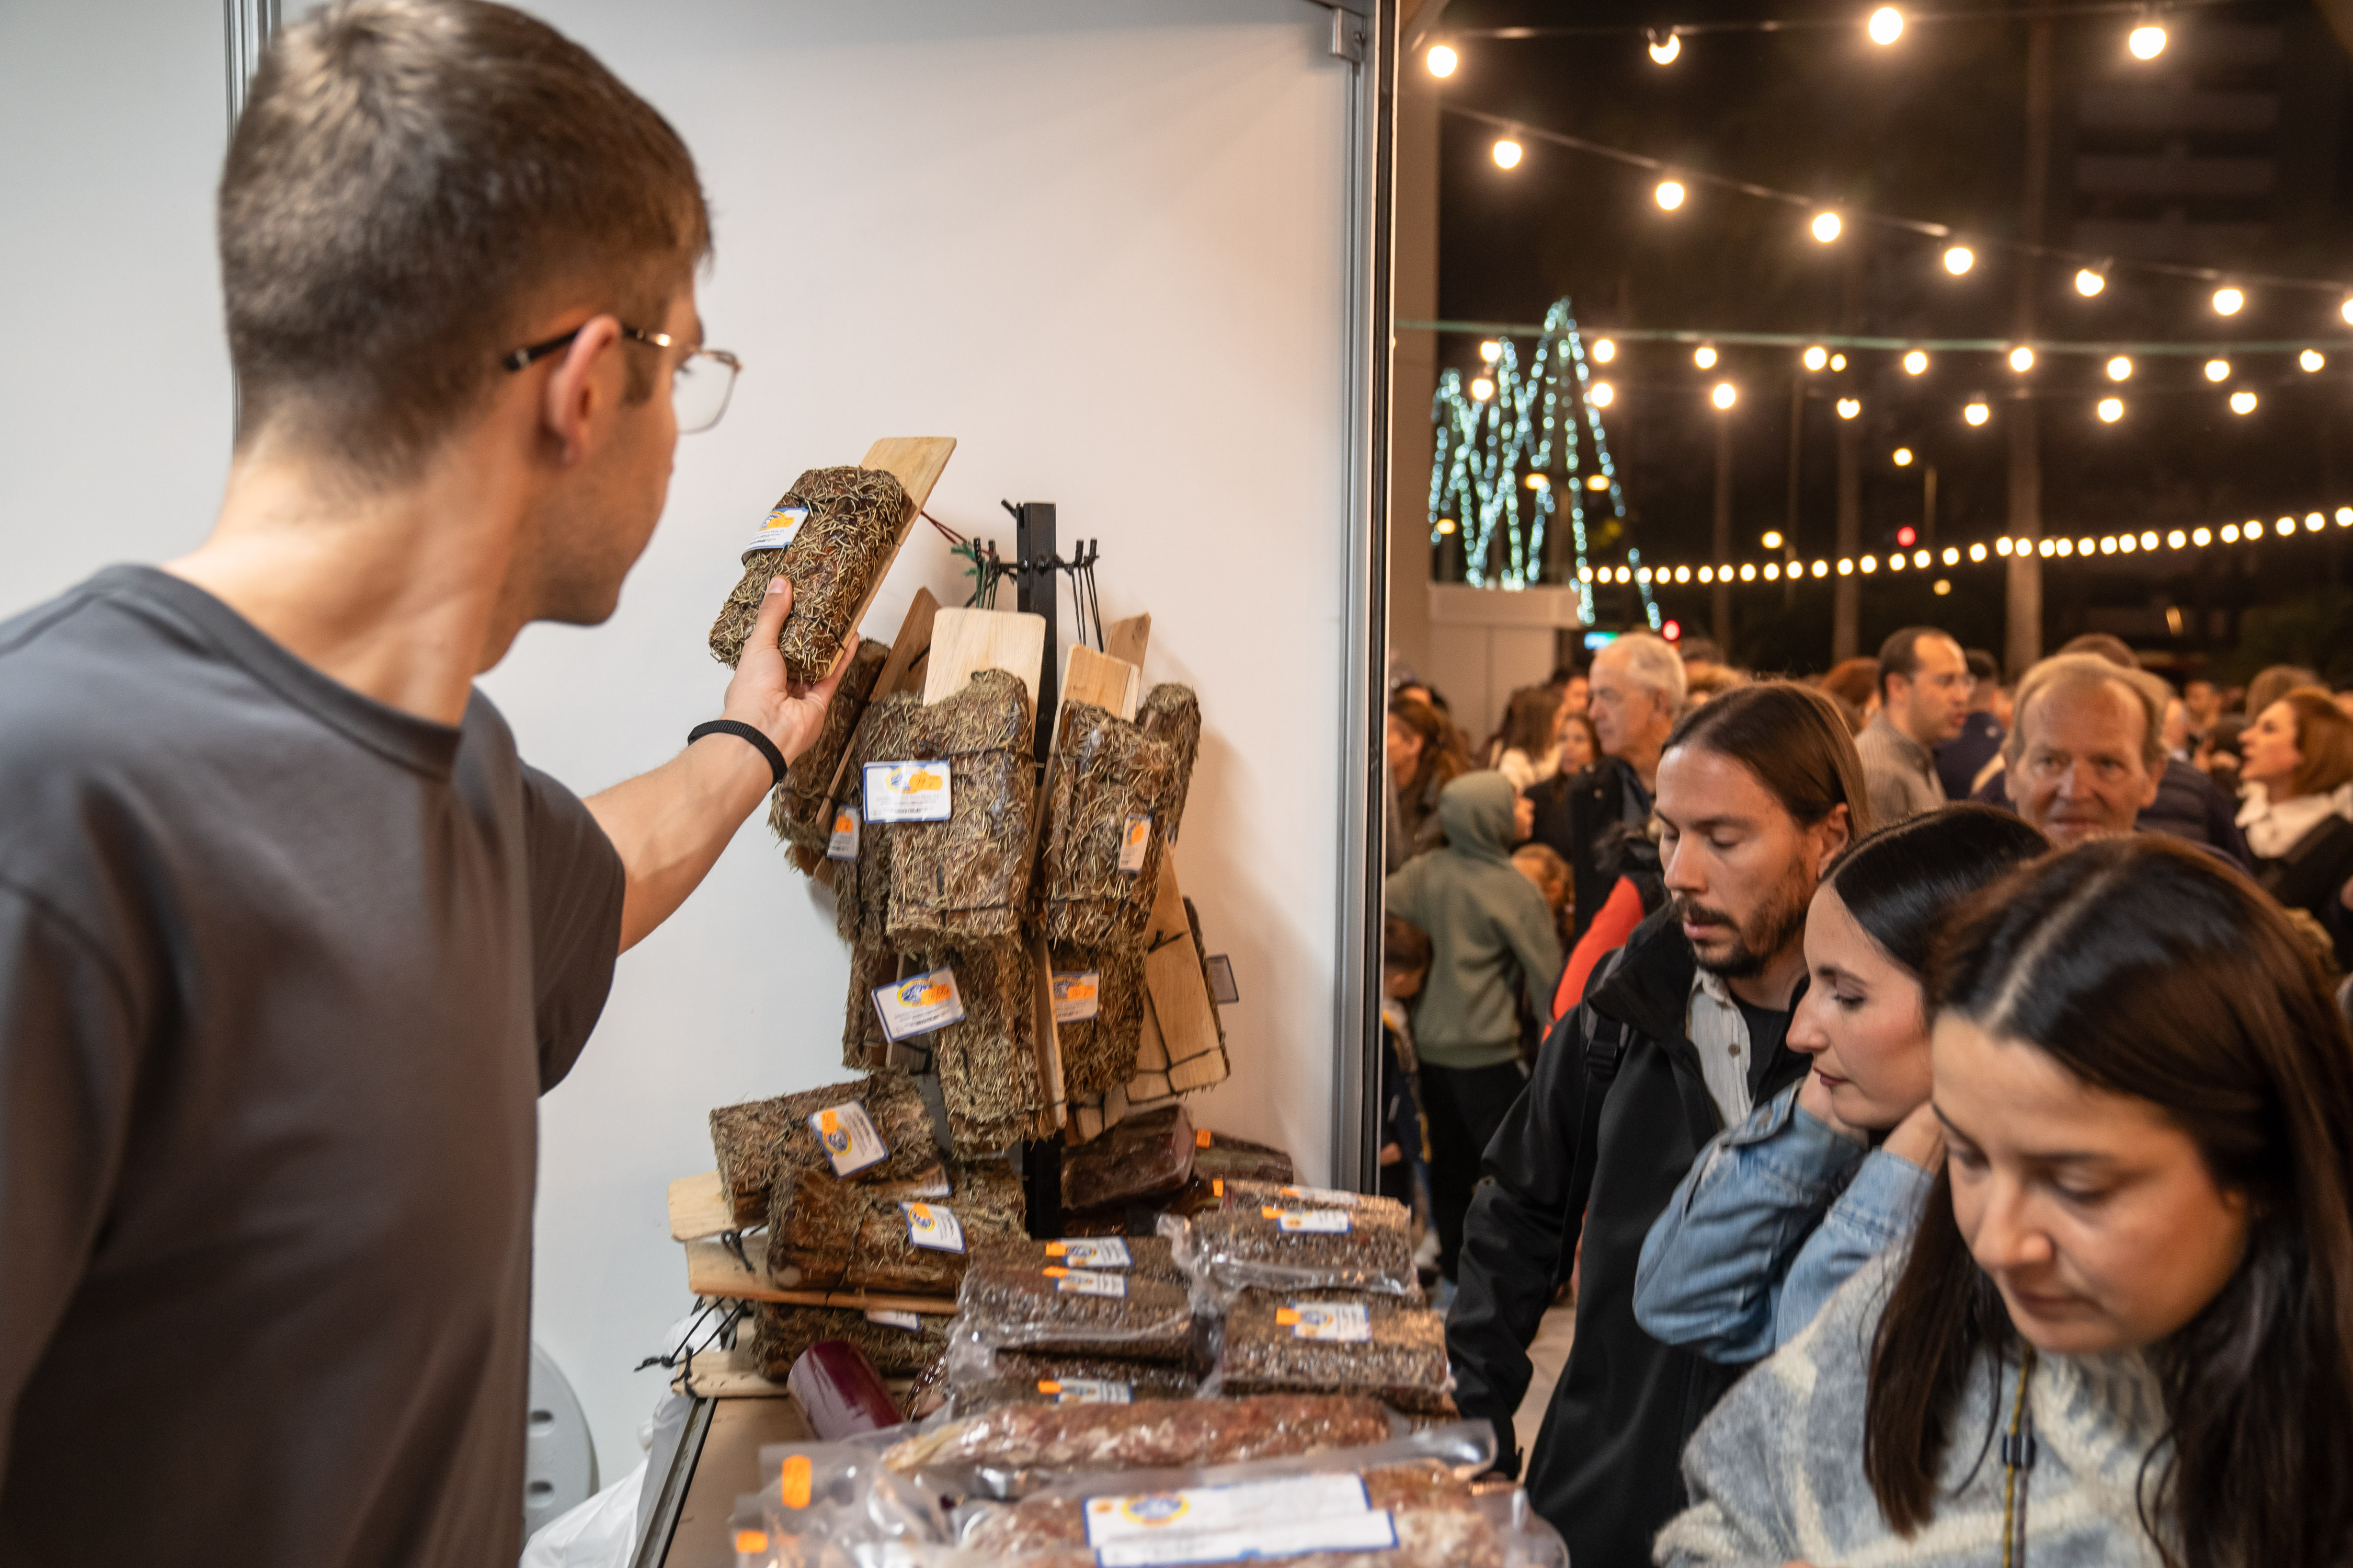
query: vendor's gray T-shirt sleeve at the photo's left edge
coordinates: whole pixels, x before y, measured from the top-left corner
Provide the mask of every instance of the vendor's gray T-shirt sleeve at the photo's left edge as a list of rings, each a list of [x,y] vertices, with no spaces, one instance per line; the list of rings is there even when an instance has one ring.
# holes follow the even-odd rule
[[[132,992],[94,940],[0,882],[0,1469],[80,1288],[132,1117]]]

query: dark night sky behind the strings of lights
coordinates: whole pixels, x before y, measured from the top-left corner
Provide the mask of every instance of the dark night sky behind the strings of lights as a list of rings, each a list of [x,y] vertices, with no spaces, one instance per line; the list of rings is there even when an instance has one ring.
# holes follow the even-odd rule
[[[1791,383],[1807,388],[1795,545],[1835,545],[1835,397],[1864,416],[1864,550],[1892,550],[1897,529],[1922,522],[1922,480],[1939,475],[1934,543],[1991,543],[2007,531],[2005,421],[2009,393],[2033,388],[2042,449],[2045,534],[2108,534],[2240,522],[2252,515],[2334,510],[2353,503],[2341,454],[2353,421],[2353,327],[2346,294],[2247,282],[2235,317],[2212,310],[2214,282],[2118,266],[2097,299],[2073,287],[2073,261],[2031,263],[1998,242],[2021,233],[2026,24],[1918,24],[1897,47],[1861,31],[1861,5],[1529,5],[1457,0],[1426,42],[1454,42],[1461,68],[1442,87],[1449,106],[1504,115],[1591,141],[1798,190],[1849,209],[1835,244],[1807,235],[1807,212],[1689,183],[1675,214],[1652,200],[1657,174],[1522,139],[1518,169],[1492,160],[1497,132],[1442,118],[1440,317],[1539,322],[1572,299],[1588,339],[1612,327],[1746,329],[1962,339],[2014,336],[2019,270],[2033,270],[2038,339],[2066,341],[2318,341],[2327,367],[2306,374],[2292,353],[2233,355],[2233,374],[2205,378],[2209,355],[2134,355],[2115,386],[2106,357],[2045,353],[2017,376],[2000,355],[1934,355],[1908,376],[1897,353],[1854,353],[1845,374],[1802,374],[1795,350],[1722,348],[1711,371],[1687,346],[1621,343],[1605,411],[1631,508],[1626,538],[1593,559],[1708,559],[1715,421],[1734,423],[1737,557],[1767,559],[1760,536],[1786,529]],[[1560,26],[1838,16],[1854,26],[1727,33],[1682,40],[1673,66],[1654,66],[1640,35],[1482,40],[1489,26]],[[2059,19],[2045,240],[2092,254],[2353,280],[2353,71],[2318,14],[2289,5],[2221,5],[2165,16],[2155,61],[2125,49],[2127,16]],[[1421,71],[1421,61],[1407,61]],[[1878,209],[1948,223],[1977,263],[1941,266],[1951,240],[1857,221]],[[1532,350],[1522,341],[1522,357]],[[1478,339],[1440,341],[1440,364],[1478,367]],[[1729,416],[1706,404],[1729,378]],[[2254,390],[2249,416],[2228,411]],[[2092,404],[2127,400],[2104,425]],[[1993,418],[1962,421],[1986,395]],[[1911,447],[1920,461],[1897,468]],[[2097,564],[2052,562],[2045,639],[2115,630],[2158,661],[2228,668],[2240,644],[2280,637],[2329,644],[2353,663],[2353,611],[2334,585],[2353,567],[2353,529],[2264,543],[2247,552],[2160,552]],[[1565,559],[1555,569],[1567,567]],[[1461,576],[1452,545],[1438,571]],[[1934,597],[1929,578],[1951,576]],[[1617,595],[1617,597],[1614,597]],[[1807,583],[1795,607],[1781,590],[1737,590],[1737,654],[1760,668],[1828,661],[1828,585]],[[1661,604],[1706,628],[1704,588],[1666,588]],[[2271,614],[2245,616],[2264,607]],[[1612,590],[1598,614],[1624,623],[1633,590]],[[2167,616],[2167,611],[2179,611]],[[2002,646],[1998,567],[1878,578],[1864,588],[1864,646],[1908,621],[1939,621],[1972,646]],[[2282,625],[2304,628],[2287,632]],[[2174,630],[2179,625],[2179,630]],[[2245,656],[2257,656],[2247,651]]]

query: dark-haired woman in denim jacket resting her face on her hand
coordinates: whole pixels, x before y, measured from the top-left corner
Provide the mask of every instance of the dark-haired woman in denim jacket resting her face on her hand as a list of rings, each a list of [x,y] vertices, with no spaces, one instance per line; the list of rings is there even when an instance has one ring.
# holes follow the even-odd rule
[[[1635,1321],[1711,1361],[1755,1361],[1911,1234],[1944,1135],[1927,1103],[1929,950],[1969,893],[2049,849],[1993,806],[1946,806],[1849,846],[1805,917],[1788,1048],[1814,1058],[1725,1128],[1642,1244]]]

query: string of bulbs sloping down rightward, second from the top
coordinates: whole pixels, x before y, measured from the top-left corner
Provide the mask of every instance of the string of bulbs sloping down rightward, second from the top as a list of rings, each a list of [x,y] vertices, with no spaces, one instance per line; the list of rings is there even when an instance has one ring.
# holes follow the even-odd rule
[[[2238,315],[2247,308],[2247,287],[2259,284],[2266,289],[2311,289],[2320,294],[2339,294],[2339,313],[2346,322],[2353,322],[2353,282],[2341,277],[2292,277],[2282,273],[2252,273],[2252,270],[2226,270],[2209,266],[2191,266],[2181,261],[2141,261],[2132,256],[2097,256],[2092,252],[2078,252],[2059,244],[2028,244],[2026,240],[2002,240],[2002,237],[1977,237],[1974,244],[1960,237],[1951,223],[1934,223],[1929,219],[1908,219],[1889,212],[1873,212],[1868,207],[1854,207],[1842,202],[1824,202],[1817,195],[1805,195],[1800,190],[1781,190],[1777,186],[1760,186],[1755,181],[1734,179],[1729,174],[1711,174],[1704,169],[1682,169],[1664,158],[1652,158],[1649,153],[1633,153],[1628,148],[1614,148],[1602,141],[1591,141],[1586,136],[1572,136],[1567,132],[1555,132],[1541,125],[1529,125],[1525,120],[1508,120],[1504,115],[1489,115],[1480,108],[1461,108],[1454,103],[1445,106],[1445,113],[1459,120],[1473,120],[1497,132],[1497,141],[1489,148],[1499,169],[1518,169],[1527,155],[1527,141],[1541,141],[1546,146],[1567,148],[1572,153],[1588,153],[1593,158],[1605,158],[1635,169],[1647,169],[1659,174],[1659,183],[1652,188],[1652,202],[1661,212],[1680,212],[1692,195],[1692,186],[1708,186],[1715,190],[1732,190],[1765,202],[1779,202],[1784,207],[1800,207],[1809,212],[1807,233],[1817,244],[1835,244],[1852,223],[1873,223],[1897,233],[1927,237],[1927,240],[1951,240],[1939,263],[1953,277],[1962,277],[1977,268],[1977,249],[2005,249],[2017,256],[2028,256],[2035,261],[2059,261],[2075,263],[2075,292],[2085,299],[2097,299],[2108,287],[2111,273],[2148,273],[2158,277],[2188,277],[2198,282],[2219,284],[2209,296],[2214,315]]]

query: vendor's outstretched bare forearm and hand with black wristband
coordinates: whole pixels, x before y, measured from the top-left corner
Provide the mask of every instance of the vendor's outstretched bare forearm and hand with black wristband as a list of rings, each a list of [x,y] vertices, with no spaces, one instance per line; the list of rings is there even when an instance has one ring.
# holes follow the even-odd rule
[[[826,705],[842,682],[847,661],[812,686],[784,675],[776,632],[793,609],[793,585],[769,578],[760,621],[753,623],[727,682],[720,710],[776,743],[786,762],[798,762],[826,726]],[[628,891],[621,896],[621,952],[666,922],[718,863],[727,839],[767,797],[774,776],[767,757],[741,736],[704,736],[652,773],[638,773],[588,797],[588,813],[621,851]]]

